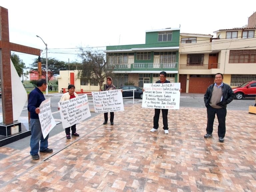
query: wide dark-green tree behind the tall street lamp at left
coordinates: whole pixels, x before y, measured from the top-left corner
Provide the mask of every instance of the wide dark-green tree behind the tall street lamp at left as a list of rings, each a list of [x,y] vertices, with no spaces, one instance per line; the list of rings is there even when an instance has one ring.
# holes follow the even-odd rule
[[[41,58],[42,64],[42,76],[46,78],[46,58]],[[48,58],[48,81],[55,75],[60,74],[60,70],[68,70],[68,64],[64,61],[59,61],[54,58]],[[30,73],[38,71],[38,59],[34,59],[33,63],[30,64]]]

